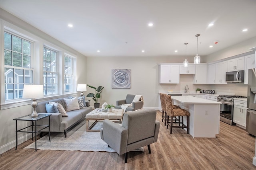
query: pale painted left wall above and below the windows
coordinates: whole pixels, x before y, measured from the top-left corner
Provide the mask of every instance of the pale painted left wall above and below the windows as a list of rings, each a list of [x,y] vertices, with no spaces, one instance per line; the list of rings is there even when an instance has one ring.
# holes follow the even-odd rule
[[[86,57],[81,53],[75,51],[74,49],[66,46],[64,43],[50,37],[46,33],[32,27],[28,23],[16,18],[15,16],[9,14],[8,12],[0,8],[0,19],[7,21],[13,25],[18,26],[19,28],[28,31],[49,43],[52,43],[62,49],[65,49],[67,52],[72,53],[77,56],[77,81],[78,83],[86,82]],[[2,31],[0,27],[0,31]],[[2,54],[1,54],[2,55]],[[2,56],[1,56],[2,57]],[[79,93],[80,94],[80,93]],[[79,95],[78,94],[78,95]],[[40,101],[40,100],[39,100]],[[14,118],[21,117],[32,113],[32,107],[30,104],[21,107],[14,107],[11,109],[0,110],[0,154],[6,150],[12,149],[16,146],[16,132],[15,132],[15,121]],[[26,127],[28,124],[27,121],[19,121],[18,127]],[[26,141],[26,133],[18,133],[19,144]],[[20,149],[20,148],[19,148]]]

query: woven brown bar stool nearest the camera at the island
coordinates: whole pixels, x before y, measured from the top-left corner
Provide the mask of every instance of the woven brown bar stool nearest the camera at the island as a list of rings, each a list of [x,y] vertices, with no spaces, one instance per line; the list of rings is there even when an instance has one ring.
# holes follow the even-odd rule
[[[186,111],[185,109],[181,109],[181,108],[174,108],[172,105],[172,98],[169,95],[164,95],[164,102],[165,102],[165,106],[166,106],[166,113],[167,113],[167,129],[168,129],[168,125],[170,123],[170,134],[172,134],[172,128],[173,127],[180,127],[182,129],[187,128],[187,133],[189,134],[189,116],[190,113],[188,111]],[[170,120],[173,119],[173,117],[176,116],[181,116],[181,122],[173,122],[170,121],[169,122],[169,117],[171,118]],[[187,117],[187,125],[184,125],[184,116]],[[178,123],[179,126],[174,126],[173,123]],[[181,124],[181,126],[180,126]]]

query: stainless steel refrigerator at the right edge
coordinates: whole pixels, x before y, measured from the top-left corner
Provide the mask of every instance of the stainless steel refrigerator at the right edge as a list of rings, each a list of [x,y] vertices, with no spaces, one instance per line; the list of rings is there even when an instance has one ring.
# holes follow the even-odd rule
[[[248,70],[246,131],[256,135],[256,69]]]

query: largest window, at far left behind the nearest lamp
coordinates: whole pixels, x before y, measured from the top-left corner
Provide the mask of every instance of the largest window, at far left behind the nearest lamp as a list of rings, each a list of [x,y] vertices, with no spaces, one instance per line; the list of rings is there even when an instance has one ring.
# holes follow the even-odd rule
[[[5,100],[22,98],[24,84],[33,83],[31,42],[4,33]]]

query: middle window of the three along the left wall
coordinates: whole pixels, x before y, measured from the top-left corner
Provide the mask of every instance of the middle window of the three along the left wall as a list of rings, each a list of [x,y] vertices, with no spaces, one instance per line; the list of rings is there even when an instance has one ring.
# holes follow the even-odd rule
[[[44,95],[57,94],[58,92],[58,72],[56,72],[57,64],[57,52],[44,47]]]

